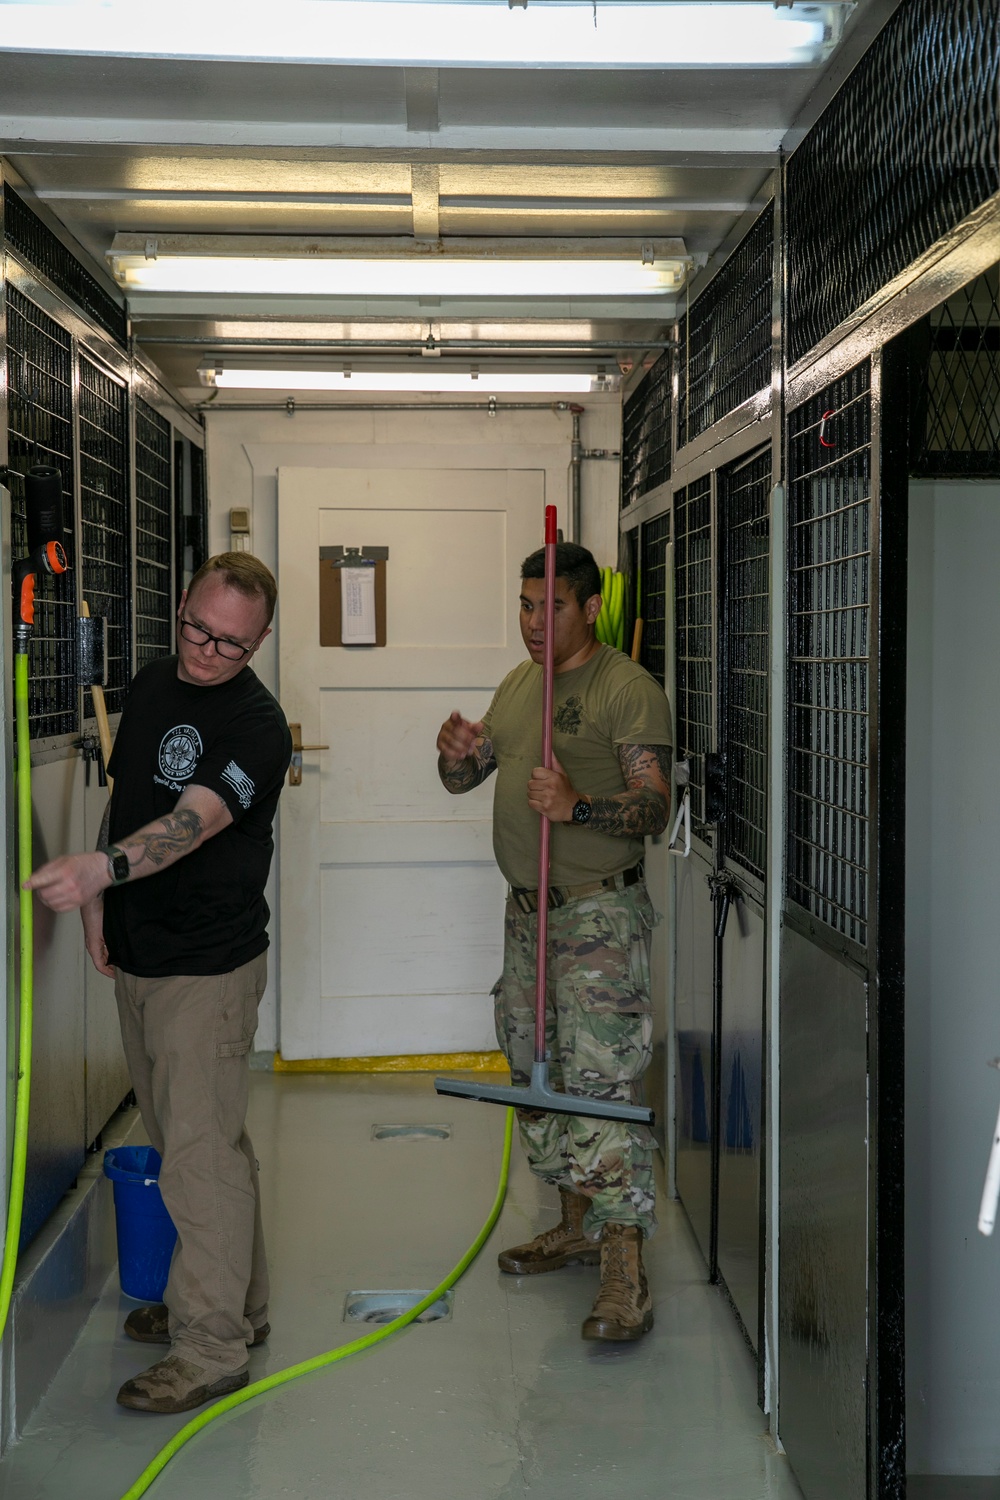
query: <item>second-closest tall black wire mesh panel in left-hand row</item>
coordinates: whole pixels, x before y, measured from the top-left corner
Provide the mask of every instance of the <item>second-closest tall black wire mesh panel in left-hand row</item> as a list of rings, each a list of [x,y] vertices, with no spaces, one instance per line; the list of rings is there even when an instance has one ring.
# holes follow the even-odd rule
[[[129,682],[127,392],[79,356],[79,555],[91,615],[108,621],[105,702],[117,712]],[[84,717],[93,714],[90,693]]]

